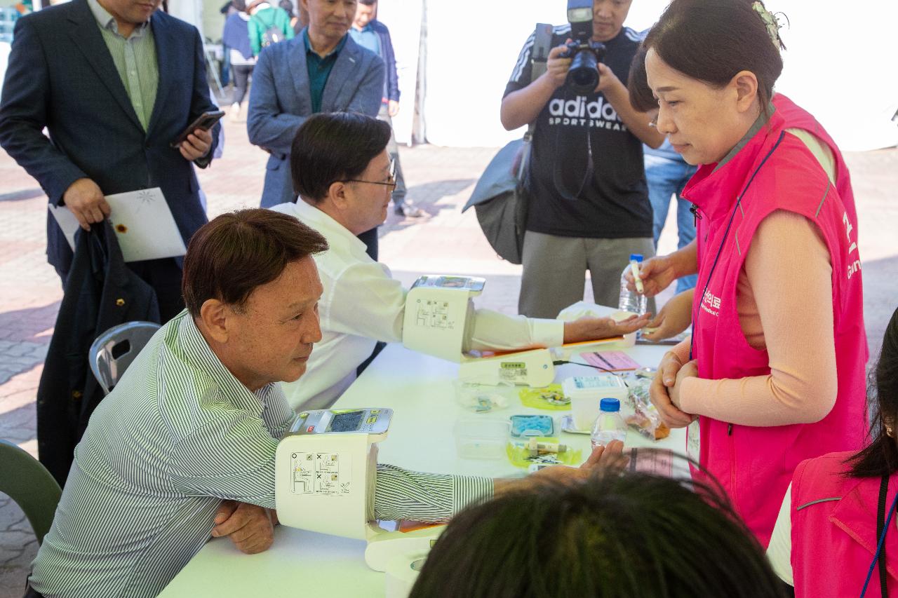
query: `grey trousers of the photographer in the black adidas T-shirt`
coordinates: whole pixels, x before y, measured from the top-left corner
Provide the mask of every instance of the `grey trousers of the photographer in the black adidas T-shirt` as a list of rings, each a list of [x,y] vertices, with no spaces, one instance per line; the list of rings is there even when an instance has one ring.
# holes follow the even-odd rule
[[[651,237],[584,239],[527,231],[518,312],[529,318],[557,317],[571,303],[583,300],[587,269],[595,303],[617,307],[621,273],[630,253],[648,259],[655,255],[655,242]],[[647,311],[655,313],[654,298],[648,300]]]

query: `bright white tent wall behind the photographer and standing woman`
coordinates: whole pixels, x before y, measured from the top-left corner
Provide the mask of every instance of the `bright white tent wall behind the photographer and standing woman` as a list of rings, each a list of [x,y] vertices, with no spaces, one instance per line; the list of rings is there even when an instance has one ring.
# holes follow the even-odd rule
[[[536,22],[565,22],[565,0],[381,0],[391,31],[403,92],[397,134],[408,140],[419,40],[426,4],[427,141],[437,145],[503,145],[522,135],[499,124],[499,102],[515,58]],[[626,24],[638,31],[667,2],[634,0]],[[891,121],[898,110],[894,28],[898,3],[770,0],[788,16],[780,32],[788,50],[777,91],[811,111],[845,151],[898,144]],[[413,48],[413,54],[407,54]]]

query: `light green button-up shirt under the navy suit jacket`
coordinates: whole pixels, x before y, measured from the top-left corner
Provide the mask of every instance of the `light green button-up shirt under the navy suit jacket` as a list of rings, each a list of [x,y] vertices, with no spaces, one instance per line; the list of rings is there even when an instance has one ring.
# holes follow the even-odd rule
[[[146,130],[150,126],[150,117],[153,116],[156,89],[159,86],[153,27],[147,21],[138,25],[130,37],[124,38],[119,34],[115,18],[97,0],[87,0],[87,4],[100,26],[103,41],[110,50],[112,62],[119,71],[121,83],[125,85],[137,119]]]

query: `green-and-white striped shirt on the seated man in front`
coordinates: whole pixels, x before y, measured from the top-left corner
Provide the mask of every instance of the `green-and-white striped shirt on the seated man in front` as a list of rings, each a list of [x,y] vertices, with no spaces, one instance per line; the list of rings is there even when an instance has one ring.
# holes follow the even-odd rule
[[[31,586],[159,594],[209,539],[222,499],[275,507],[275,450],[294,419],[279,384],[249,391],[181,312],[93,412]],[[439,521],[491,494],[487,478],[378,465],[374,516]]]

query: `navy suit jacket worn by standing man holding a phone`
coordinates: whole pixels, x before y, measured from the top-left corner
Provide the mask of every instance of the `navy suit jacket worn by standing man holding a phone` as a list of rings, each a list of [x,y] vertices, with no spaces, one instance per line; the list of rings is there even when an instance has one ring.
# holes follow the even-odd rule
[[[56,205],[85,177],[104,195],[161,188],[187,242],[207,217],[193,165],[169,144],[200,114],[217,109],[197,29],[162,11],[150,26],[159,85],[144,131],[86,0],[19,19],[0,101],[0,145]],[[212,134],[209,156],[217,125]],[[48,260],[66,272],[72,251],[51,215],[47,234]]]

